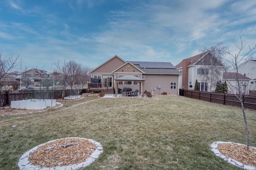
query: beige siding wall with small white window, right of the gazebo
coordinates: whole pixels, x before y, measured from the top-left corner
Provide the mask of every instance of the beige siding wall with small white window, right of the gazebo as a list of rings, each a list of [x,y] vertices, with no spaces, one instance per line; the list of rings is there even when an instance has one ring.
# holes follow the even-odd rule
[[[161,94],[167,92],[167,94],[177,94],[178,93],[178,77],[179,75],[159,75],[159,74],[145,74],[146,81],[144,84],[144,90],[151,92],[153,94]],[[170,89],[170,82],[176,82],[176,89]],[[157,86],[161,86],[161,89],[158,89]]]

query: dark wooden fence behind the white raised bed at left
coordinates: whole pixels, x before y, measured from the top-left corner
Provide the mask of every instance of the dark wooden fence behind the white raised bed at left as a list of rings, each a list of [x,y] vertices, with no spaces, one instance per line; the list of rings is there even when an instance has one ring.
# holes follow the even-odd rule
[[[80,94],[87,93],[86,89],[82,89]],[[74,96],[74,90],[66,90],[66,96]],[[60,99],[62,90],[9,90],[4,92],[1,98],[3,106],[11,104],[11,101],[25,100],[25,99]]]

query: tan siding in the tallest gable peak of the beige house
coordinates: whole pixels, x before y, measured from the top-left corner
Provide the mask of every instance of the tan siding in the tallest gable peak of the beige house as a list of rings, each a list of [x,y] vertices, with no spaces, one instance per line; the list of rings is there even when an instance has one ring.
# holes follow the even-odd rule
[[[103,64],[96,70],[92,72],[92,74],[96,73],[110,73],[114,71],[116,68],[122,66],[124,64],[124,61],[119,59],[118,57],[114,57],[112,60],[108,61],[107,63]]]

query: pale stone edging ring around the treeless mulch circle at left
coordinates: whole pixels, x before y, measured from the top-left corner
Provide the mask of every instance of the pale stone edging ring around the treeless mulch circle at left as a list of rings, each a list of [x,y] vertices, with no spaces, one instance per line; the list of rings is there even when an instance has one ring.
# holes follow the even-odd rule
[[[103,152],[103,147],[100,143],[92,140],[92,139],[85,139],[85,138],[78,138],[78,137],[69,137],[69,138],[62,138],[62,139],[83,139],[83,140],[87,140],[89,142],[91,142],[92,144],[96,145],[96,150],[86,159],[85,162],[81,162],[81,163],[77,163],[77,164],[72,164],[72,165],[68,165],[68,166],[55,166],[55,167],[40,167],[40,166],[35,166],[33,165],[30,160],[29,160],[29,155],[30,153],[34,152],[35,150],[38,149],[38,147],[41,147],[43,145],[46,145],[48,143],[52,143],[54,141],[60,140],[60,139],[56,139],[56,140],[52,140],[52,141],[48,141],[46,143],[43,143],[41,145],[38,145],[30,150],[28,150],[27,152],[25,152],[19,159],[18,161],[18,167],[20,168],[20,170],[78,170],[80,168],[84,168],[88,165],[90,165],[92,162],[94,162],[99,156],[100,154],[102,154]]]

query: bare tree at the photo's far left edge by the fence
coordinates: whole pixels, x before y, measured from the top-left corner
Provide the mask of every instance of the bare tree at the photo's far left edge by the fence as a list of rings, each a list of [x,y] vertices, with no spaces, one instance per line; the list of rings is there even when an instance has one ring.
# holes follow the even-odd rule
[[[2,51],[0,52],[0,81],[4,76],[6,76],[8,73],[12,72],[13,69],[16,69],[19,66],[18,58],[20,56],[18,55],[17,57],[2,57]],[[4,84],[2,84],[4,86]],[[2,86],[0,86],[0,107],[3,106],[4,100],[3,100],[3,95],[4,95],[4,89],[2,89]]]

